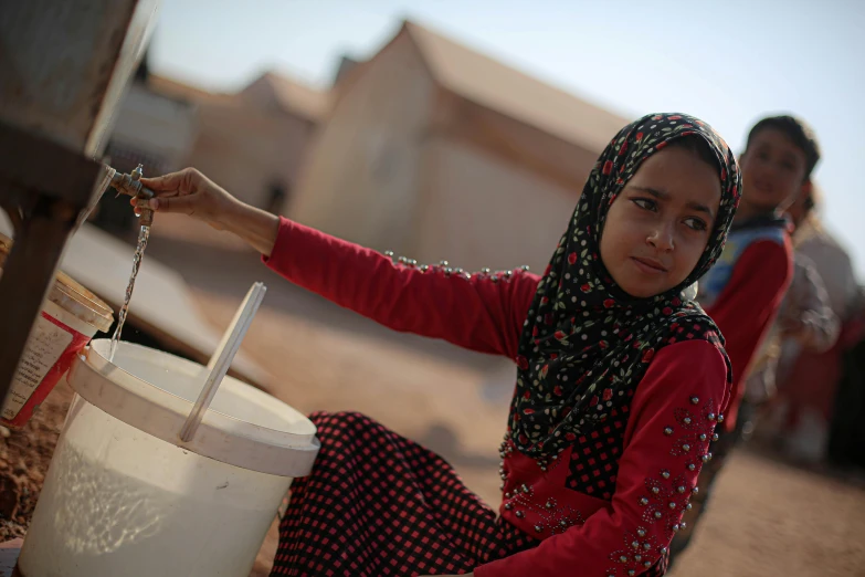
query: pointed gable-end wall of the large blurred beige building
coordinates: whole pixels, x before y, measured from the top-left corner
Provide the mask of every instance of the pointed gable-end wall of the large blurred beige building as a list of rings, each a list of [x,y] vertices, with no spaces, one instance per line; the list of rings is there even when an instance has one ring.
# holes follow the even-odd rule
[[[377,250],[410,248],[434,88],[405,36],[351,70],[309,150],[289,216]]]

